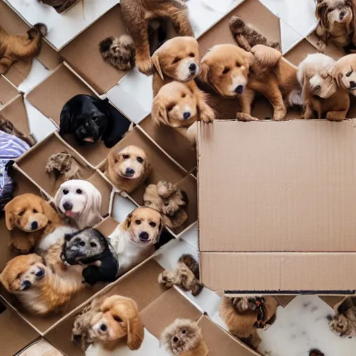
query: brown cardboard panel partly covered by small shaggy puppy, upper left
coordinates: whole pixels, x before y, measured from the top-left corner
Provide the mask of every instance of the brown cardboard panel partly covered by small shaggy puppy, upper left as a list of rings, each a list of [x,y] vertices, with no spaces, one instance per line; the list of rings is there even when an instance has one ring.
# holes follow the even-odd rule
[[[99,52],[105,38],[118,37],[126,32],[120,5],[116,5],[86,31],[67,44],[60,54],[99,95],[106,93],[126,74],[106,63]]]

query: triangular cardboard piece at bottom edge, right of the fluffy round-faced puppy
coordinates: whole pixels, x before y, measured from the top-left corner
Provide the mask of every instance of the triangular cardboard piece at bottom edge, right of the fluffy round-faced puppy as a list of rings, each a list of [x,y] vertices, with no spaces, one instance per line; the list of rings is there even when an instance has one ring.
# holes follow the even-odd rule
[[[259,355],[213,323],[208,316],[203,316],[200,319],[199,326],[202,328],[202,334],[209,349],[209,356]]]

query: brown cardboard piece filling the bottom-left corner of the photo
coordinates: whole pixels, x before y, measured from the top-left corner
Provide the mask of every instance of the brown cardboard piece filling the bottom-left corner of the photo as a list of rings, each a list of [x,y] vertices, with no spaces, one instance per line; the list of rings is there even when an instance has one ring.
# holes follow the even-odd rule
[[[0,299],[1,309],[3,302]],[[0,312],[1,356],[13,356],[40,335],[11,308]]]

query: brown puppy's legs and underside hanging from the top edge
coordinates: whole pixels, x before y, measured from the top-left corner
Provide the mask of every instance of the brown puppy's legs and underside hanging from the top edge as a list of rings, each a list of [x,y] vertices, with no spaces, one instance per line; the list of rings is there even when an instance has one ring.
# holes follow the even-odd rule
[[[188,9],[181,0],[122,0],[122,16],[136,47],[136,65],[150,75],[153,66],[149,55],[148,22],[168,18],[180,36],[193,36]]]

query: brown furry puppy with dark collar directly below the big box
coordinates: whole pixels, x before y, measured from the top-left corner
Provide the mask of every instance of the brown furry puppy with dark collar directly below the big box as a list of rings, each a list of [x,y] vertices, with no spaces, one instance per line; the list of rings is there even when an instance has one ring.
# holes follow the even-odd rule
[[[275,298],[266,296],[266,323],[272,323],[277,310],[278,302]],[[227,298],[224,297],[220,303],[219,314],[223,319],[229,332],[248,344],[248,346],[257,349],[261,339],[257,334],[254,323],[257,321],[257,306],[255,298]]]

